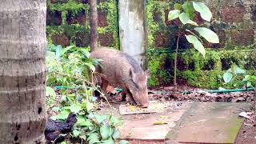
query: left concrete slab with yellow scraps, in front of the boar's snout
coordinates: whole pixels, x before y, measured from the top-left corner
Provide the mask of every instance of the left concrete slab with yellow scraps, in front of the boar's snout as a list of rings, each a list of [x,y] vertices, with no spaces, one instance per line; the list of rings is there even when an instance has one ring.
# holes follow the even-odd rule
[[[160,107],[168,107],[158,109],[158,113],[153,114],[122,115],[121,139],[164,141],[170,128],[174,127],[175,122],[179,121],[186,110],[190,108],[191,102],[159,102],[159,104],[163,104]],[[104,113],[112,111],[112,114],[120,116],[118,110],[105,109],[104,111]],[[165,122],[166,124],[154,125],[154,122]]]

